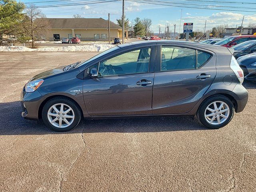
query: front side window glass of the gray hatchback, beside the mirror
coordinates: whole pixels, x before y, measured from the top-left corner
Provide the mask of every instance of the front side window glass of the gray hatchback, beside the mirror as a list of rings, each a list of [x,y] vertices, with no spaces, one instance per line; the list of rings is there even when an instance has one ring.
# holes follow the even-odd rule
[[[94,65],[98,76],[146,73],[149,68],[151,47],[132,50]],[[89,71],[92,67],[89,68]]]

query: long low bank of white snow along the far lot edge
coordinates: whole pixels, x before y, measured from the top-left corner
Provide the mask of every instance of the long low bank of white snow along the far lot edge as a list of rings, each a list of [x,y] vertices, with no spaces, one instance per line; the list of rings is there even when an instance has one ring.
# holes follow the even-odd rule
[[[67,47],[44,47],[31,49],[24,46],[0,46],[0,52],[31,52],[31,51],[44,51],[44,52],[74,52],[74,51],[105,51],[114,47],[110,44],[92,44],[83,46],[67,46]]]

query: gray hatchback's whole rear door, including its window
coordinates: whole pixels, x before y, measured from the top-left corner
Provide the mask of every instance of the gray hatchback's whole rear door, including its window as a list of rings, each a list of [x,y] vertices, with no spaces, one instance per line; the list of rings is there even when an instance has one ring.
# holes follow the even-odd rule
[[[157,47],[153,114],[192,110],[216,76],[216,55],[192,46]]]

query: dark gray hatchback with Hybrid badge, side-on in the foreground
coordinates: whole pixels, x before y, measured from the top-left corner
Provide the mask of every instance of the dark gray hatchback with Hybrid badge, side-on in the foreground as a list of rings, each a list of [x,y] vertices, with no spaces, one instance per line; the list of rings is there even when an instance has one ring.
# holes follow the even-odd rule
[[[81,118],[195,115],[215,129],[246,106],[243,80],[232,49],[161,40],[122,44],[33,77],[21,93],[22,116],[42,118],[55,131],[71,130]]]

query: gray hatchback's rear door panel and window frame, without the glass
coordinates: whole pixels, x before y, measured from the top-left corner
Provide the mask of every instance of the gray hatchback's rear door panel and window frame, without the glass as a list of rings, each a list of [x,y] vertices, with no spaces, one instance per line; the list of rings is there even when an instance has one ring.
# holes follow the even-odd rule
[[[160,69],[160,46],[157,48],[157,54],[156,65]],[[192,110],[216,76],[216,55],[213,52],[210,54],[212,57],[201,68],[155,73],[153,114],[185,114]]]

